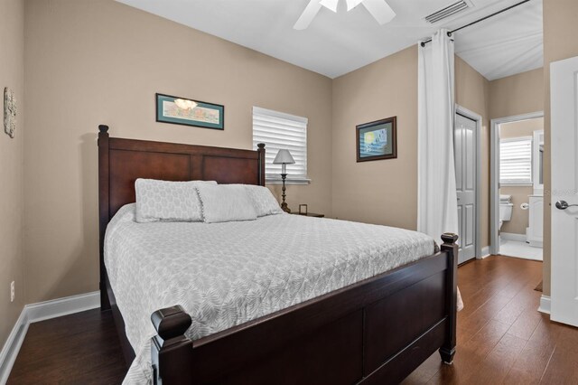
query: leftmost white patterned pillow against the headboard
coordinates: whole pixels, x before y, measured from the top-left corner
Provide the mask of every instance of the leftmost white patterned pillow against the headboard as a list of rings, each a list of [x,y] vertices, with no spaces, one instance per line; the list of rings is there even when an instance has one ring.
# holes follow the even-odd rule
[[[195,187],[203,184],[216,185],[217,182],[137,179],[135,221],[202,221],[202,208]]]

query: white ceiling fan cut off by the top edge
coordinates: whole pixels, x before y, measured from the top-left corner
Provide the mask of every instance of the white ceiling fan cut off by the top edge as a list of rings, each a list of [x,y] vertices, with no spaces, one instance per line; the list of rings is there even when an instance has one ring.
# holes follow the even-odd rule
[[[303,14],[293,26],[296,30],[304,30],[313,21],[315,15],[322,9],[322,6],[337,12],[337,5],[340,0],[311,0],[305,7]],[[387,4],[386,0],[346,0],[348,12],[356,6],[362,4],[366,7],[369,14],[371,14],[380,25],[391,22],[396,17],[396,13]]]

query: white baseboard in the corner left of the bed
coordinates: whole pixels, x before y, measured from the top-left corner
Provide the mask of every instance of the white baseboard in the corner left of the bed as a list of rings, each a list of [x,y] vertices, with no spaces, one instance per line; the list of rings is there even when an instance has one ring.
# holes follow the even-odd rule
[[[0,384],[4,384],[8,380],[30,324],[96,309],[99,306],[100,292],[98,291],[24,305],[22,313],[16,320],[16,324],[14,324],[12,332],[8,335],[8,339],[0,352]]]

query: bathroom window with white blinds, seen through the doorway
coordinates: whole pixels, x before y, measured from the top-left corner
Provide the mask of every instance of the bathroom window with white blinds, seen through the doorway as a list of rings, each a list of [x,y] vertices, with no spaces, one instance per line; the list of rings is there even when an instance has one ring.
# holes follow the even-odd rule
[[[499,141],[499,183],[532,184],[532,138]]]

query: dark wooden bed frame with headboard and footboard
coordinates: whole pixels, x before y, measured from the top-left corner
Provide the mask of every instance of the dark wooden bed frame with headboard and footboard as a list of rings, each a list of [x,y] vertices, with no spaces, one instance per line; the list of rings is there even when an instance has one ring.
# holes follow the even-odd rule
[[[135,358],[107,278],[108,221],[135,202],[135,179],[215,180],[265,185],[265,145],[256,151],[108,136],[99,126],[98,201],[101,309],[112,310],[126,362]],[[433,352],[451,363],[456,344],[457,236],[441,251],[272,315],[191,341],[181,306],[151,316],[158,333],[156,383],[398,383]]]

